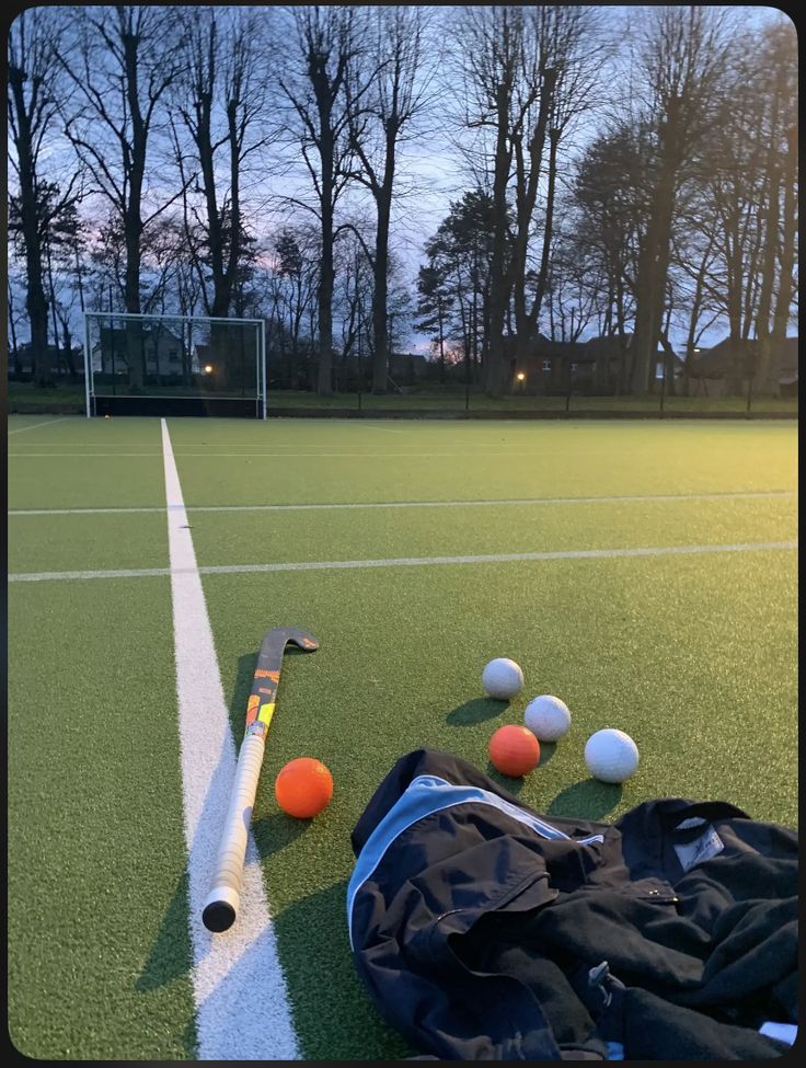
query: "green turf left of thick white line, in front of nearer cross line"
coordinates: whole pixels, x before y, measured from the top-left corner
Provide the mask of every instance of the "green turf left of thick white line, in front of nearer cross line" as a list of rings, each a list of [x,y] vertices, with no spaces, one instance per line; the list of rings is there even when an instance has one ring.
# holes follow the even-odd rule
[[[15,586],[9,622],[11,1040],[193,1057],[168,579]]]

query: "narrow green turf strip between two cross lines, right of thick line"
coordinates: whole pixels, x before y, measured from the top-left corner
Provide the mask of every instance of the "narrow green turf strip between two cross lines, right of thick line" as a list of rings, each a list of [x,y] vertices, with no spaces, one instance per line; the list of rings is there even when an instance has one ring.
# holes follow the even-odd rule
[[[192,513],[207,564],[388,560],[797,538],[794,497],[321,512]],[[412,579],[414,581],[414,579]]]

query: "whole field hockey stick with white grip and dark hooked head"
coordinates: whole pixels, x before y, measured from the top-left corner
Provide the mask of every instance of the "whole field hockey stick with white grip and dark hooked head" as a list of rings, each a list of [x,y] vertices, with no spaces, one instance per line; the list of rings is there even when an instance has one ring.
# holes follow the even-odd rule
[[[210,892],[202,912],[202,921],[208,931],[226,931],[232,927],[238,916],[249,825],[266,748],[268,725],[274,715],[283,654],[289,643],[301,648],[303,653],[313,653],[319,648],[319,642],[312,634],[298,631],[292,627],[278,627],[268,631],[261,644],[246,705],[246,730],[238,756],[230,807],[218,849]]]

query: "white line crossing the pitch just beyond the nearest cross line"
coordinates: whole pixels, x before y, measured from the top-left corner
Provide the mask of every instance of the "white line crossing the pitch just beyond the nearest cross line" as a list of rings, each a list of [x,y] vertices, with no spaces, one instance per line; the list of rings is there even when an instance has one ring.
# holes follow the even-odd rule
[[[680,501],[763,501],[797,496],[796,490],[737,490],[725,493],[646,493],[610,497],[513,497],[502,501],[387,501],[356,504],[202,504],[188,505],[187,512],[341,512],[371,508],[495,508],[499,506],[533,507],[565,504],[640,504]],[[169,505],[172,507],[172,505]],[[183,507],[185,507],[183,505]],[[164,508],[12,508],[10,516],[100,516],[129,513],[164,512]]]

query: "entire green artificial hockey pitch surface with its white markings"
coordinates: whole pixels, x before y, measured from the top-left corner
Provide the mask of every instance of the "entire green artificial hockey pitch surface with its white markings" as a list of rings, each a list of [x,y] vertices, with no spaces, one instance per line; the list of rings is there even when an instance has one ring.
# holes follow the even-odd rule
[[[548,815],[611,820],[684,796],[796,826],[795,425],[166,429],[200,615],[172,599],[169,524],[171,538],[187,532],[177,502],[166,507],[160,421],[10,421],[9,1027],[26,1056],[414,1053],[357,979],[345,889],[352,828],[419,746],[459,754]],[[175,641],[200,640],[207,620],[216,663],[194,668],[194,750],[181,702],[194,679]],[[286,657],[255,803],[272,922],[254,940],[235,925],[205,941],[199,841],[223,818],[211,799],[230,756],[216,748],[217,679],[240,745],[257,648],[279,625],[321,648]],[[523,669],[509,704],[482,692],[494,656]],[[538,693],[566,701],[572,731],[526,779],[499,777],[490,735]],[[585,768],[602,726],[641,751],[622,786]],[[303,755],[335,783],[312,822],[274,797]]]

